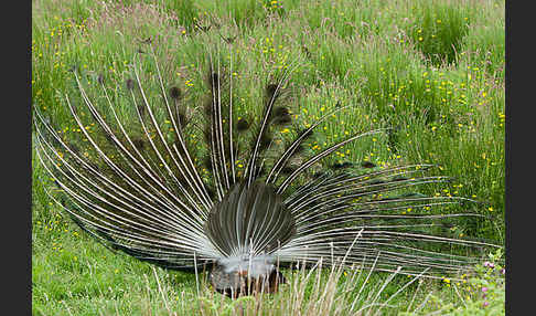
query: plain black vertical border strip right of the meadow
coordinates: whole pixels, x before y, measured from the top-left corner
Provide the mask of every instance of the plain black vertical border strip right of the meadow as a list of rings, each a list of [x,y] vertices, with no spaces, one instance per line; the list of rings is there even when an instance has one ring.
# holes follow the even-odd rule
[[[530,67],[534,63],[530,60],[534,60],[532,42],[535,19],[529,6],[526,6],[526,9],[521,6],[514,8],[513,3],[522,2],[505,1],[506,315],[529,315],[532,313],[527,314],[526,310],[533,309],[530,303],[535,299],[534,292],[530,289],[530,286],[534,286],[530,281],[534,278],[532,253],[535,249],[533,235],[535,222],[528,218],[534,213],[533,207],[527,201],[527,198],[530,199],[534,194],[534,186],[530,185],[533,177],[527,171],[534,170],[534,159],[532,159],[534,155],[530,147],[534,147],[536,135],[532,131],[534,116],[529,113],[525,115],[521,113],[534,107],[532,92],[535,91],[535,87],[530,80],[534,77],[534,66]],[[523,11],[526,12],[526,15],[522,13]],[[517,43],[517,48],[514,43]],[[521,45],[524,48],[521,49]],[[533,76],[527,76],[528,78],[525,80],[523,70],[527,75],[533,74]],[[514,148],[524,148],[525,152],[515,155]],[[515,170],[521,170],[523,173],[516,173]],[[521,223],[525,223],[525,225]],[[515,241],[514,235],[517,235]],[[514,259],[515,249],[519,254],[517,259]],[[526,283],[526,286],[521,283]]]

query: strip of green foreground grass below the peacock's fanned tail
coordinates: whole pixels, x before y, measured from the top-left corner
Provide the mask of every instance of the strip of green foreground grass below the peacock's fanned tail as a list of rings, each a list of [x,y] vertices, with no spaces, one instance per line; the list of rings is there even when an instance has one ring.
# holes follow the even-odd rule
[[[282,270],[287,283],[278,293],[231,299],[211,288],[204,271],[171,273],[111,254],[56,221],[50,231],[55,238],[47,242],[52,249],[36,245],[42,252],[32,259],[34,315],[497,315],[484,313],[501,308],[504,314],[497,263],[441,282],[401,275],[404,268],[379,273],[298,263]]]

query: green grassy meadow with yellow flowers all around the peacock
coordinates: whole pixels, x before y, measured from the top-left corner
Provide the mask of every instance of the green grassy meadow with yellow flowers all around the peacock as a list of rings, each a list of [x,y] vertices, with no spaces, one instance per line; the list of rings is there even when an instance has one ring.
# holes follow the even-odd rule
[[[89,84],[104,80],[107,86],[120,87],[112,94],[120,102],[132,61],[137,52],[149,52],[144,42],[150,39],[170,85],[179,85],[195,102],[203,91],[206,43],[218,43],[223,61],[229,63],[222,41],[226,39],[233,43],[229,75],[239,86],[237,107],[246,115],[254,117],[260,97],[257,87],[264,81],[297,65],[291,88],[300,95],[293,109],[300,124],[311,124],[337,103],[355,105],[339,114],[336,123],[321,125],[323,138],[310,150],[320,150],[346,133],[393,127],[386,135],[344,147],[334,159],[384,166],[438,164],[438,172],[453,181],[431,186],[428,193],[476,199],[483,203],[465,206],[464,211],[489,218],[460,222],[451,228],[452,234],[504,243],[504,1],[33,0],[32,9],[33,106],[65,135],[78,134],[64,106],[65,94],[76,94],[73,67]],[[140,56],[150,77],[152,61],[148,54]],[[121,108],[128,117],[128,105]],[[112,254],[77,230],[50,204],[44,188],[51,183],[35,157],[32,183],[35,315],[190,315],[184,306],[204,315],[216,313],[210,309],[218,296],[207,288],[197,295],[195,276],[153,270]],[[329,271],[323,277],[329,284]],[[365,292],[375,293],[388,277],[373,274]],[[332,277],[339,288],[344,288],[344,280],[342,272]],[[476,293],[483,286],[479,282],[495,280],[501,276],[481,272],[474,288],[467,292]],[[358,288],[360,281],[353,282]],[[385,303],[406,282],[405,276],[395,276],[377,303]],[[382,312],[487,315],[495,310],[492,307],[504,306],[500,285],[493,287],[499,298],[484,306],[482,293],[469,299],[459,294],[463,286],[457,292],[441,281],[418,284],[388,302],[395,307]],[[302,310],[313,306],[305,295],[314,295],[312,287],[310,292],[289,287],[274,298],[244,304],[271,302],[285,309],[299,303]],[[292,293],[303,297],[285,298]],[[345,295],[341,293],[337,297]],[[336,302],[356,297],[364,305],[374,298],[354,293]],[[229,304],[217,305],[219,315],[233,308]],[[336,309],[342,306],[337,304],[342,303],[325,306]],[[318,312],[319,306],[309,310]]]

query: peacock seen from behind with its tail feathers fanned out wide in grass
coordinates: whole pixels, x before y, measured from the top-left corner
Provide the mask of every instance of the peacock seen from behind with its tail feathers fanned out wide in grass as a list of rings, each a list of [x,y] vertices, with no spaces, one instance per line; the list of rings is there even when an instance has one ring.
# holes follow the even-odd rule
[[[226,67],[211,60],[206,70],[205,95],[193,103],[157,62],[152,73],[133,66],[115,87],[122,94],[75,69],[65,113],[77,133],[35,108],[37,158],[61,192],[50,198],[111,251],[168,270],[208,267],[212,286],[236,296],[277,291],[280,268],[296,262],[440,277],[495,246],[443,232],[476,214],[430,212],[469,201],[418,191],[449,181],[429,175],[436,166],[333,162],[345,145],[385,129],[307,146],[352,105],[303,127],[287,71],[260,87],[253,117],[237,113]]]

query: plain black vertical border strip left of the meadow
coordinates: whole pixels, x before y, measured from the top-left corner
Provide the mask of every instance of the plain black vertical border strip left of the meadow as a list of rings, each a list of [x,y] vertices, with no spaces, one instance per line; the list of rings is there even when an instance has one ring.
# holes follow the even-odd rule
[[[7,3],[6,3],[7,4]],[[2,303],[17,315],[32,313],[32,2],[3,6],[2,32]],[[10,308],[10,307],[13,308]],[[8,314],[10,314],[8,312]]]

